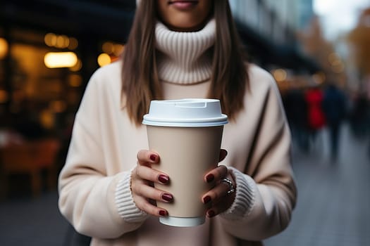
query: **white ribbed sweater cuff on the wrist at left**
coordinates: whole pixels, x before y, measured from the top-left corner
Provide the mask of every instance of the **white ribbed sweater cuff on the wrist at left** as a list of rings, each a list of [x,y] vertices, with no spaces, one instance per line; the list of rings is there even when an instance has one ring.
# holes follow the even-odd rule
[[[141,222],[147,219],[147,213],[140,210],[132,198],[131,188],[131,171],[124,174],[123,179],[118,181],[116,186],[116,206],[118,214],[131,223]]]

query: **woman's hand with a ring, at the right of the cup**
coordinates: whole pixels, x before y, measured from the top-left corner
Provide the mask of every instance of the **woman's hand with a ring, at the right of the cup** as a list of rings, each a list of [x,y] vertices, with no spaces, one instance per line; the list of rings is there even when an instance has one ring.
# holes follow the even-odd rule
[[[225,159],[227,155],[226,150],[220,151],[220,162]],[[232,184],[229,184],[228,179]],[[214,188],[205,193],[202,201],[206,205],[210,205],[206,211],[206,216],[213,217],[217,214],[225,212],[235,200],[236,183],[233,176],[230,174],[228,168],[224,165],[219,165],[212,169],[204,176],[206,183],[215,183]],[[230,192],[230,189],[234,190]]]

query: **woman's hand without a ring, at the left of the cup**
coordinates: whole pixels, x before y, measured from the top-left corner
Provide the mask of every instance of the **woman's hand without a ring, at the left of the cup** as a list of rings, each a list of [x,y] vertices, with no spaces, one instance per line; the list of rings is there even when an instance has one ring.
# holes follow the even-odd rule
[[[172,202],[173,195],[164,190],[154,188],[154,183],[168,184],[167,174],[152,169],[152,164],[158,164],[159,155],[149,150],[137,153],[137,166],[131,173],[131,192],[135,205],[147,214],[166,216],[166,209],[156,207],[156,201]]]

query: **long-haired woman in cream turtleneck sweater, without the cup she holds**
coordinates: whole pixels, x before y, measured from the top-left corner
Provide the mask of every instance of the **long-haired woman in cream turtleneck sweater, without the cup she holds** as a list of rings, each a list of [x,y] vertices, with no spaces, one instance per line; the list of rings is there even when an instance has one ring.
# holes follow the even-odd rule
[[[61,212],[92,245],[260,245],[288,226],[288,124],[272,77],[241,54],[227,0],[141,1],[122,61],[87,86],[59,178]],[[153,202],[173,200],[152,187],[171,177],[151,168],[160,156],[142,117],[151,100],[174,98],[218,98],[230,119],[196,227],[159,224],[167,212]]]

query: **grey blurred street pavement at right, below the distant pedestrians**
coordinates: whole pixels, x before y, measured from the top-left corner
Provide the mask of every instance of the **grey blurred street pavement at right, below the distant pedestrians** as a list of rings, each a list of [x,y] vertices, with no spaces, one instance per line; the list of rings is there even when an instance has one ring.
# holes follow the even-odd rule
[[[288,228],[266,246],[370,245],[369,140],[352,137],[343,127],[340,156],[330,162],[324,130],[309,155],[293,151],[298,202]]]

